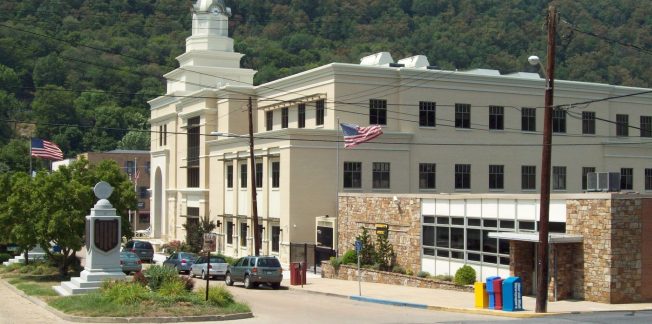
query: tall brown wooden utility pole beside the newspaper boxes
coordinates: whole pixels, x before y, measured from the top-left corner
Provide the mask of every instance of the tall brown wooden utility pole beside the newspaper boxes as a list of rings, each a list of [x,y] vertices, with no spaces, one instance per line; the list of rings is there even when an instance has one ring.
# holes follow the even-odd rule
[[[552,99],[555,80],[555,35],[557,11],[548,7],[548,57],[546,72],[543,147],[541,153],[541,198],[539,209],[539,250],[537,260],[536,312],[546,313],[548,302],[548,219],[550,212],[550,164],[552,156]]]

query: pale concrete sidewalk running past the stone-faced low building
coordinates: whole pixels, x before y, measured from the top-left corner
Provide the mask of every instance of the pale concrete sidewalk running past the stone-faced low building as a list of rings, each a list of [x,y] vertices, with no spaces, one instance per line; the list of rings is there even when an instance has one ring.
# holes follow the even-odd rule
[[[292,290],[311,293],[341,296],[353,300],[375,302],[395,306],[427,308],[449,312],[475,313],[506,317],[538,317],[553,314],[571,314],[587,312],[610,311],[641,311],[652,310],[652,303],[640,304],[602,304],[588,301],[557,301],[548,302],[548,313],[535,313],[536,299],[523,297],[524,311],[504,312],[474,307],[474,294],[443,289],[415,288],[398,285],[362,282],[359,295],[357,281],[321,278],[319,275],[308,273],[306,284],[291,286],[290,276],[284,274],[284,286]]]

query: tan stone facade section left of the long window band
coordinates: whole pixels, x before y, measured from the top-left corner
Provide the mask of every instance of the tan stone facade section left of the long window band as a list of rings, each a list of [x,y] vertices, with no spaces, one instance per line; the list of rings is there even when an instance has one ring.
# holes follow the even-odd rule
[[[419,198],[340,194],[338,253],[352,250],[355,237],[366,227],[376,240],[376,224],[389,225],[388,240],[394,247],[396,263],[413,273],[421,271],[421,200]]]

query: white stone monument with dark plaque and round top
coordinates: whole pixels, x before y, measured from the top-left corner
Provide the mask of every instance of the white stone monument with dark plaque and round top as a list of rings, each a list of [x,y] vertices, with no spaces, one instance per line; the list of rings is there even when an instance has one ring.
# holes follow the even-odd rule
[[[62,296],[89,293],[105,280],[125,280],[120,268],[120,216],[107,200],[113,188],[100,181],[93,191],[99,200],[86,216],[86,265],[79,277],[53,287]]]

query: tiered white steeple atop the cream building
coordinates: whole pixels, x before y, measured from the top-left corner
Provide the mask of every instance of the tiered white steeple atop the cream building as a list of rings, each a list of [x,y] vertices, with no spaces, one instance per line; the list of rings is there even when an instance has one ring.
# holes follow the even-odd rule
[[[256,71],[240,68],[244,54],[233,51],[229,37],[231,8],[223,0],[198,0],[192,9],[192,35],[180,67],[167,73],[167,93],[194,92],[225,85],[251,86]]]

